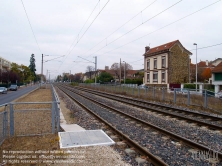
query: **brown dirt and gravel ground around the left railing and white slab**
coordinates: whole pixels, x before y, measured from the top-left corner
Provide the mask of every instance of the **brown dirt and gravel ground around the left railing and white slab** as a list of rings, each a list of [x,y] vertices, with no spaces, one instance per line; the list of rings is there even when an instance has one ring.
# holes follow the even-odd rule
[[[50,102],[52,101],[50,89],[38,89],[34,92],[18,99],[16,102]],[[65,107],[61,100],[61,109],[67,123],[75,123],[70,111]],[[118,153],[111,147],[80,147],[72,149],[60,149],[58,134],[44,134],[38,136],[17,136],[17,134],[34,133],[35,131],[45,131],[50,118],[44,114],[43,110],[50,108],[50,105],[18,105],[16,110],[25,112],[29,110],[29,114],[15,116],[18,123],[15,123],[15,136],[7,138],[0,146],[0,165],[127,165]],[[30,109],[32,109],[30,111]],[[27,111],[26,111],[27,112]],[[25,130],[24,130],[25,129]],[[48,131],[48,129],[47,129]]]

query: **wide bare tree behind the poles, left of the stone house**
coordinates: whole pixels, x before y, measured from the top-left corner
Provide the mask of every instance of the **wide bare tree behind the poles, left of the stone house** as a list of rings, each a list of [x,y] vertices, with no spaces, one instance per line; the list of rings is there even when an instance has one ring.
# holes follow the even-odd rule
[[[121,63],[121,75],[124,76],[124,66],[125,66],[125,63]],[[114,63],[112,64],[110,70],[113,70],[114,73],[116,74],[116,76],[118,77],[118,79],[120,79],[120,64],[119,63]],[[126,63],[126,75],[128,73],[129,70],[133,70],[133,67]]]

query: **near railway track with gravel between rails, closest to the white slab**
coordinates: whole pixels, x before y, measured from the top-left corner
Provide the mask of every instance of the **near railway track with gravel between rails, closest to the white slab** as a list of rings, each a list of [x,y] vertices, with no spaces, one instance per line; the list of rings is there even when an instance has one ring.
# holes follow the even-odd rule
[[[206,146],[203,146],[203,145],[200,145],[200,144],[197,144],[196,142],[193,142],[193,141],[191,141],[191,140],[188,140],[188,139],[186,139],[186,138],[183,138],[183,137],[181,137],[181,136],[179,136],[179,135],[177,135],[177,134],[174,134],[174,133],[172,133],[172,132],[169,132],[169,131],[167,131],[167,130],[164,130],[164,129],[161,129],[160,127],[158,127],[158,126],[155,126],[155,125],[153,125],[153,124],[150,124],[150,123],[148,123],[148,122],[146,122],[146,121],[143,121],[143,120],[141,120],[141,119],[139,119],[139,118],[136,118],[136,117],[134,117],[134,116],[132,116],[132,115],[129,115],[129,114],[127,114],[127,113],[124,113],[123,111],[119,111],[119,110],[117,110],[116,108],[113,108],[113,107],[110,107],[110,106],[108,106],[107,104],[102,104],[101,102],[98,102],[98,101],[96,101],[96,100],[94,100],[94,99],[91,99],[90,97],[87,97],[85,94],[83,94],[83,92],[78,92],[76,89],[73,89],[73,88],[68,88],[67,89],[67,87],[61,87],[61,86],[59,86],[61,89],[63,89],[63,91],[66,91],[66,93],[69,93],[69,96],[72,96],[72,97],[74,97],[75,98],[75,100],[76,100],[76,98],[82,98],[81,100],[82,101],[84,101],[84,102],[79,102],[79,103],[81,103],[81,105],[82,105],[82,107],[85,107],[85,109],[87,109],[87,106],[86,105],[89,105],[88,103],[90,103],[90,105],[97,105],[97,107],[98,107],[98,105],[100,106],[100,108],[103,108],[103,110],[105,109],[106,111],[102,111],[102,112],[98,112],[98,111],[96,111],[96,110],[94,110],[93,112],[93,114],[95,114],[95,116],[99,116],[98,118],[102,118],[102,119],[104,119],[104,117],[106,117],[107,118],[107,115],[108,115],[108,119],[106,119],[105,121],[107,122],[107,123],[109,123],[109,126],[110,127],[113,127],[113,126],[115,126],[114,128],[114,130],[117,130],[116,132],[117,133],[119,133],[119,134],[123,134],[124,132],[126,132],[126,130],[127,130],[127,128],[129,128],[129,126],[132,126],[132,125],[130,125],[130,124],[128,124],[128,123],[131,123],[131,124],[136,124],[135,126],[133,126],[134,127],[134,129],[132,129],[133,131],[137,131],[137,134],[138,135],[140,135],[140,136],[143,136],[143,137],[145,137],[144,139],[147,139],[147,137],[150,137],[149,136],[149,134],[147,135],[147,133],[154,133],[152,136],[151,136],[151,138],[150,139],[154,139],[153,141],[159,141],[160,142],[160,147],[162,147],[162,145],[165,145],[165,144],[168,144],[169,145],[169,142],[174,142],[175,140],[177,140],[177,141],[182,141],[183,142],[183,144],[180,144],[179,146],[180,146],[180,148],[178,148],[177,146],[178,146],[178,144],[170,144],[169,145],[169,147],[164,147],[164,152],[163,153],[156,153],[156,152],[153,152],[153,149],[152,148],[150,148],[151,149],[151,151],[152,151],[152,153],[154,153],[154,155],[152,155],[152,153],[150,153],[150,152],[148,152],[147,150],[146,150],[146,148],[147,147],[150,147],[149,145],[150,144],[146,144],[145,142],[146,142],[146,140],[144,140],[144,139],[142,139],[142,138],[140,138],[140,139],[138,139],[138,138],[136,138],[136,136],[134,136],[134,134],[132,134],[132,133],[128,133],[128,132],[126,132],[126,133],[124,133],[124,139],[129,139],[129,137],[130,138],[132,138],[132,139],[134,139],[134,140],[136,140],[136,142],[135,141],[133,141],[134,143],[136,143],[136,144],[134,144],[134,147],[136,147],[136,146],[140,146],[140,153],[141,154],[143,154],[143,155],[145,155],[145,153],[147,153],[146,155],[147,156],[149,156],[149,155],[151,155],[151,157],[149,157],[149,158],[154,158],[155,157],[155,155],[157,155],[157,156],[159,156],[160,158],[162,158],[163,160],[164,160],[164,162],[166,162],[167,164],[169,163],[170,165],[171,164],[175,164],[175,163],[178,163],[178,162],[180,162],[180,164],[181,163],[183,163],[184,162],[184,160],[183,159],[178,159],[178,157],[174,157],[175,159],[172,159],[172,157],[170,157],[170,159],[166,159],[166,156],[164,156],[163,154],[165,154],[165,155],[167,155],[166,153],[165,153],[165,151],[166,151],[166,149],[169,151],[169,153],[170,153],[170,151],[173,149],[174,151],[176,151],[176,154],[180,154],[179,156],[181,156],[181,154],[184,154],[184,156],[186,156],[186,154],[188,154],[189,153],[189,147],[191,146],[191,147],[193,147],[193,148],[196,148],[196,149],[199,149],[199,150],[202,150],[202,151],[209,151],[209,148],[208,147],[206,147]],[[71,92],[72,91],[72,92]],[[77,97],[78,96],[78,97]],[[86,102],[86,100],[87,100],[87,102]],[[96,104],[95,104],[96,103]],[[114,113],[115,112],[115,113]],[[101,115],[102,114],[102,115]],[[118,116],[116,116],[118,114]],[[104,117],[103,117],[104,116]],[[124,124],[123,126],[125,126],[125,128],[124,127],[120,127],[120,126],[116,126],[115,125],[115,123],[113,123],[113,122],[109,122],[109,119],[110,119],[110,117],[113,117],[113,116],[115,116],[115,118],[114,119],[118,119],[119,121],[121,121],[122,123],[121,124]],[[119,119],[120,118],[120,119]],[[130,122],[129,122],[130,121]],[[117,123],[119,123],[119,122],[117,122]],[[125,123],[126,123],[126,125],[125,125]],[[128,125],[127,125],[128,124]],[[118,129],[117,129],[118,128]],[[120,128],[120,130],[122,130],[122,131],[118,131],[119,130],[119,128]],[[147,129],[148,128],[148,129]],[[149,130],[150,129],[150,130]],[[148,130],[150,131],[150,132],[148,132]],[[141,134],[142,133],[142,134]],[[157,134],[157,133],[161,133],[160,135],[161,135],[161,137],[159,137],[159,134]],[[128,135],[128,136],[127,136]],[[157,136],[158,135],[158,136]],[[168,140],[168,141],[163,141],[161,138],[164,138],[164,136],[169,136],[170,137],[170,139]],[[129,140],[128,140],[128,142],[130,142]],[[148,141],[149,142],[149,141]],[[167,142],[167,143],[166,143]],[[132,144],[132,143],[130,143],[130,144]],[[142,145],[141,145],[142,144]],[[154,143],[155,144],[155,143]],[[189,147],[188,147],[189,146]],[[137,149],[138,149],[138,147],[137,147]],[[144,147],[146,147],[146,148],[144,148]],[[152,147],[152,145],[151,145],[151,147]],[[158,147],[157,147],[158,148]],[[149,149],[149,148],[148,148]],[[182,149],[182,150],[181,150]],[[144,151],[145,150],[145,151]],[[146,152],[147,151],[147,152]],[[155,151],[155,150],[154,150]],[[185,152],[186,151],[186,152]],[[222,158],[222,154],[219,152],[219,153],[217,153],[217,155],[219,156],[219,158]],[[168,158],[169,158],[169,156],[167,156]],[[153,160],[155,160],[155,162],[156,162],[156,160],[158,161],[158,157],[156,157],[156,158],[154,158]],[[186,158],[186,160],[187,160],[187,158]],[[191,161],[191,163],[193,163],[193,162],[195,162],[195,160],[194,159],[192,159],[192,157],[188,157],[188,160],[189,161]],[[152,161],[153,163],[154,163],[154,161]],[[166,164],[165,163],[165,164]],[[162,163],[163,164],[163,163]],[[161,164],[161,165],[162,165]],[[204,163],[203,163],[204,164]],[[156,164],[155,163],[155,165],[158,165],[158,164]],[[176,164],[177,165],[177,164]]]

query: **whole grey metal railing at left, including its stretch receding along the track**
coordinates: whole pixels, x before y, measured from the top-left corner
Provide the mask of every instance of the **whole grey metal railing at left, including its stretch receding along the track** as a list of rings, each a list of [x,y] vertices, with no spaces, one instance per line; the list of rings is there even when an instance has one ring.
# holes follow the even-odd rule
[[[52,134],[60,131],[60,101],[53,86],[52,102],[11,102],[0,112],[0,145],[6,137]],[[8,131],[9,129],[9,131]]]

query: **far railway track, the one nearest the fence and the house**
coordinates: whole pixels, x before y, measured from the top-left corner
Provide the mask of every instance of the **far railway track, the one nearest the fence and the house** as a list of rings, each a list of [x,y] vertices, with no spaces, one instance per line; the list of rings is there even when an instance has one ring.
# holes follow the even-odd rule
[[[151,103],[148,101],[126,97],[122,95],[115,95],[107,92],[99,92],[96,90],[90,90],[87,88],[78,88],[82,91],[92,93],[95,95],[99,95],[105,98],[109,98],[115,101],[119,101],[125,104],[129,104],[135,107],[139,107],[142,109],[146,109],[149,111],[157,112],[166,116],[170,116],[173,118],[178,118],[181,120],[185,120],[188,123],[196,123],[199,126],[205,126],[212,130],[222,130],[222,118],[217,116],[212,116],[208,114],[188,111],[184,109],[174,108],[166,105],[160,105]]]

